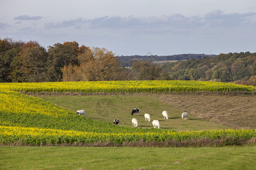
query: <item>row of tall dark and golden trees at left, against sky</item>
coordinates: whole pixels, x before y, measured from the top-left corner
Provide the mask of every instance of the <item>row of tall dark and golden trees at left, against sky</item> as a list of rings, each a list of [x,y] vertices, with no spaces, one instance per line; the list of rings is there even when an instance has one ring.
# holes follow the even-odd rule
[[[115,80],[113,52],[63,42],[43,48],[38,42],[0,39],[0,82]]]

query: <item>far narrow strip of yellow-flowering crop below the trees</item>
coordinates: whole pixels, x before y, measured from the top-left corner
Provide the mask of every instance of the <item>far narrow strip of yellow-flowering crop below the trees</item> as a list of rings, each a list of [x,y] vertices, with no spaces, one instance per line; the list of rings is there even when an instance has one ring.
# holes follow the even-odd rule
[[[185,80],[0,83],[0,89],[25,92],[196,92],[253,91],[253,86]]]

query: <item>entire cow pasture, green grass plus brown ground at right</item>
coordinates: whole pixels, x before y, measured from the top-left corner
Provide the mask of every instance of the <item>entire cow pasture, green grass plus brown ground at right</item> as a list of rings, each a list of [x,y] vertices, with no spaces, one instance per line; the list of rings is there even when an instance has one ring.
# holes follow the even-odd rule
[[[126,94],[126,95],[38,95],[72,112],[86,109],[86,117],[103,122],[115,118],[120,124],[132,127],[131,118],[137,118],[139,127],[152,128],[146,122],[144,113],[150,113],[152,120],[160,120],[161,128],[175,131],[207,129],[255,129],[254,113],[256,97],[243,94],[213,94],[207,92],[172,94]],[[106,103],[98,113],[98,102]],[[239,103],[239,105],[237,104]],[[107,105],[108,104],[108,105]],[[131,116],[131,108],[141,109],[140,116]],[[163,120],[162,111],[168,111],[169,119]],[[181,120],[181,113],[187,111],[189,120]]]

